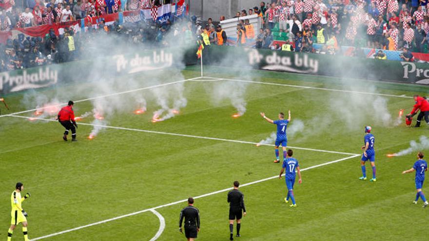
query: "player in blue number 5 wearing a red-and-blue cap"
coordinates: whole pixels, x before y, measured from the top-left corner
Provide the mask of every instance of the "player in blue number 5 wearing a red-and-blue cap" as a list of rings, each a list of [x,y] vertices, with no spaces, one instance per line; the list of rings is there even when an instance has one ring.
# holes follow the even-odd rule
[[[364,143],[365,145],[362,146],[362,149],[364,150],[364,153],[362,154],[361,159],[361,168],[362,168],[362,177],[360,177],[360,180],[367,180],[367,170],[365,168],[365,163],[370,160],[371,167],[372,167],[372,178],[371,182],[376,182],[377,179],[375,178],[375,151],[374,151],[374,143],[375,143],[375,137],[373,134],[371,134],[372,128],[370,126],[365,127],[365,137],[364,137]]]

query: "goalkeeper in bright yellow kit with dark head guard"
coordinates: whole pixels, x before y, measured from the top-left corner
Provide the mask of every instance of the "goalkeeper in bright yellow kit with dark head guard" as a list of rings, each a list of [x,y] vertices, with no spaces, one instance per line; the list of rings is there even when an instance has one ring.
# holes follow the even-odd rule
[[[24,195],[21,198],[21,191],[24,189],[24,185],[22,183],[17,183],[15,191],[12,192],[10,196],[10,204],[12,206],[12,211],[10,213],[12,219],[10,221],[10,228],[7,233],[7,241],[12,240],[12,233],[18,224],[22,223],[22,232],[24,233],[24,240],[28,241],[28,233],[27,233],[27,217],[28,214],[22,209],[22,202],[25,199],[30,197],[30,193]]]

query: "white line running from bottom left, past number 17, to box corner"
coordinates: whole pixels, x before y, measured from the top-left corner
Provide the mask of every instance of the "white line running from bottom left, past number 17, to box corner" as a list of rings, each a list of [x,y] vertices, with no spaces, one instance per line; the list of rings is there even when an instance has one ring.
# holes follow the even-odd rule
[[[330,165],[330,164],[333,164],[333,163],[342,162],[342,161],[345,161],[345,160],[348,160],[348,159],[351,159],[351,158],[355,158],[355,157],[358,157],[358,156],[360,156],[360,155],[355,154],[355,155],[352,155],[352,156],[349,156],[349,157],[345,157],[345,158],[341,158],[341,159],[338,159],[338,160],[335,160],[335,161],[322,163],[322,164],[315,165],[315,166],[312,166],[312,167],[306,167],[306,168],[301,169],[301,171],[306,171],[306,170],[310,170],[310,169],[317,168],[317,167],[327,166],[327,165]],[[285,174],[283,174],[283,176],[284,175]],[[253,184],[257,184],[257,183],[262,183],[262,182],[265,182],[265,181],[268,181],[268,180],[271,180],[271,179],[275,179],[275,178],[278,178],[278,175],[272,176],[272,177],[269,177],[269,178],[264,178],[264,179],[261,179],[261,180],[258,180],[258,181],[254,181],[254,182],[242,184],[240,186],[248,186],[248,185],[253,185]],[[226,192],[226,191],[229,191],[231,189],[232,189],[232,187],[229,187],[229,188],[225,188],[225,189],[218,190],[218,191],[215,191],[215,192],[206,193],[206,194],[203,194],[203,195],[200,195],[200,196],[196,196],[196,197],[194,197],[194,199],[204,198],[204,197],[207,197],[207,196],[211,196],[211,195],[215,195],[215,194],[218,194],[218,193]],[[61,231],[61,232],[58,232],[58,233],[48,234],[48,235],[45,235],[45,236],[41,236],[39,238],[32,239],[31,241],[46,239],[46,238],[57,236],[57,235],[60,235],[60,234],[64,234],[64,233],[69,233],[69,232],[72,232],[72,231],[76,231],[76,230],[79,230],[79,229],[82,229],[82,228],[91,227],[91,226],[95,226],[95,225],[98,225],[98,224],[102,224],[102,223],[111,222],[111,221],[115,221],[115,220],[118,220],[118,219],[123,219],[123,218],[126,218],[126,217],[130,217],[130,216],[134,216],[134,215],[137,215],[137,214],[140,214],[140,213],[144,213],[144,212],[148,212],[148,211],[152,211],[152,210],[155,210],[155,209],[158,209],[158,208],[172,206],[172,205],[176,205],[176,204],[180,204],[180,203],[185,203],[187,201],[188,201],[188,199],[183,199],[183,200],[179,200],[179,201],[176,201],[176,202],[173,202],[173,203],[163,204],[163,205],[159,205],[159,206],[156,206],[156,207],[143,209],[143,210],[140,210],[140,211],[137,211],[137,212],[134,212],[134,213],[129,213],[129,214],[117,216],[115,218],[106,219],[106,220],[103,220],[103,221],[86,224],[86,225],[83,225],[83,226],[80,226],[80,227],[75,227],[75,228],[72,228],[72,229],[67,229],[67,230],[64,230],[64,231]]]

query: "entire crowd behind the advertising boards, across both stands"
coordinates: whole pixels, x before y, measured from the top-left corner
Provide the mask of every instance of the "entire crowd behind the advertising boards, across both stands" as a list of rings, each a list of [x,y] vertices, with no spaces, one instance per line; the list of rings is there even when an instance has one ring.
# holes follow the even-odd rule
[[[410,52],[427,53],[429,43],[429,0],[272,0],[260,6],[237,12],[235,17],[257,15],[262,28],[254,29],[249,20],[238,20],[237,45],[254,39],[256,48],[296,52],[338,54],[341,46],[356,46],[351,53],[363,56],[361,47],[403,51],[400,56],[412,61]],[[126,10],[148,8],[166,3],[159,0],[128,0]],[[1,2],[0,2],[1,3]],[[3,0],[0,7],[1,30],[81,19],[121,11],[120,0]],[[219,20],[224,20],[221,17]],[[45,37],[8,39],[0,45],[1,71],[28,68],[48,63],[62,63],[91,56],[102,38],[118,44],[169,45],[168,33],[192,42],[199,37],[204,44],[228,45],[220,24],[208,19],[204,24],[192,19],[178,19],[177,24],[155,24],[151,21],[106,26],[104,22],[89,27],[88,34],[76,35],[73,29]],[[273,33],[287,37],[281,44]],[[235,37],[235,36],[234,36]],[[110,40],[109,40],[110,41]],[[119,43],[120,41],[120,43]],[[323,47],[317,48],[314,44]],[[120,48],[119,48],[120,49]],[[112,52],[114,50],[111,50]],[[381,51],[374,55],[386,59]]]

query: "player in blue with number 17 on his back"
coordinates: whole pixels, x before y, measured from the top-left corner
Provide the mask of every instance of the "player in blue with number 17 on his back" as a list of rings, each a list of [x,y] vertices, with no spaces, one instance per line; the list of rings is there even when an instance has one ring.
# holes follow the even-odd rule
[[[288,195],[285,198],[285,202],[289,203],[289,198],[290,198],[292,200],[292,204],[289,206],[296,207],[295,197],[293,196],[293,185],[295,184],[295,177],[296,177],[295,169],[298,172],[298,177],[299,177],[298,183],[302,183],[301,170],[299,169],[298,160],[296,160],[295,158],[292,158],[293,151],[291,149],[288,150],[286,155],[287,155],[286,159],[283,161],[283,166],[278,178],[281,179],[281,175],[286,169],[285,180],[286,180],[286,186],[288,187]]]

